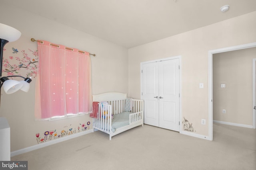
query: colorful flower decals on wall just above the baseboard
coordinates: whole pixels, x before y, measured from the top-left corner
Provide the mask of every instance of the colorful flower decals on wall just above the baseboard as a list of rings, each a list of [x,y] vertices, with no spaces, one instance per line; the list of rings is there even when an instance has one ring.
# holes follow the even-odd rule
[[[70,125],[70,126],[72,126],[72,125]],[[36,133],[37,144],[51,141],[52,139],[58,139],[58,138],[61,138],[64,136],[72,135],[74,133],[79,133],[80,131],[86,131],[86,130],[90,129],[90,121],[88,121],[87,123],[82,123],[82,124],[80,123],[78,125],[77,130],[74,127],[68,127],[68,126],[64,126],[64,128],[66,128],[66,129],[62,129],[60,131],[60,133],[58,133],[56,129],[54,131],[52,131],[52,130],[45,131],[45,132],[41,133],[42,135],[40,135],[40,133]]]

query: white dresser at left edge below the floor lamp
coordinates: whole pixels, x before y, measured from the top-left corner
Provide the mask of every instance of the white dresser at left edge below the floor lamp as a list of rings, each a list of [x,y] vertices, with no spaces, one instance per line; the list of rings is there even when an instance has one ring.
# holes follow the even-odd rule
[[[0,160],[10,161],[10,126],[5,117],[0,117]]]

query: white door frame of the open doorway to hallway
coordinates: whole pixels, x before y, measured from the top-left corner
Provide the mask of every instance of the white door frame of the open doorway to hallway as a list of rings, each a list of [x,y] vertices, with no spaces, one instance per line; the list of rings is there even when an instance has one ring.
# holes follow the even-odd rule
[[[209,134],[209,139],[210,141],[213,140],[213,103],[212,103],[212,55],[216,53],[223,53],[227,51],[234,51],[234,50],[239,50],[239,49],[246,49],[246,48],[251,48],[251,47],[256,47],[256,43],[248,43],[248,44],[243,44],[243,45],[236,45],[232,47],[226,47],[226,48],[221,48],[221,49],[215,49],[215,50],[210,50],[208,51],[208,134]],[[254,92],[255,90],[253,90]],[[255,93],[255,92],[254,92]],[[254,102],[254,100],[253,100]],[[253,108],[252,108],[253,109]],[[256,115],[253,114],[253,128],[255,129],[256,127]]]

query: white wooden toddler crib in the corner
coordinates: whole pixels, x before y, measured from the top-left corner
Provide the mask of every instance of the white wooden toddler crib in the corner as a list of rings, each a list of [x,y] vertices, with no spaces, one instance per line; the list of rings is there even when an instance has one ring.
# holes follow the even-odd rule
[[[98,105],[97,118],[92,119],[93,131],[94,129],[98,129],[104,133],[107,133],[109,134],[109,139],[111,140],[112,136],[114,135],[117,135],[139,125],[143,126],[143,100],[132,99],[132,109],[129,113],[129,122],[127,123],[128,125],[118,127],[115,129],[115,131],[113,131],[112,115],[114,115],[115,117],[115,115],[124,112],[126,98],[127,94],[118,92],[92,95],[92,100],[94,102],[108,102],[108,104]]]

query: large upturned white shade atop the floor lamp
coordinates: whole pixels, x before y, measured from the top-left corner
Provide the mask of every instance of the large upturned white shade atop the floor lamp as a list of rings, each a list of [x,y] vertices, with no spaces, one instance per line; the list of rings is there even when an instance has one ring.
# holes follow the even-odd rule
[[[21,32],[17,29],[0,23],[0,39],[5,39],[9,42],[16,41],[20,38]]]

